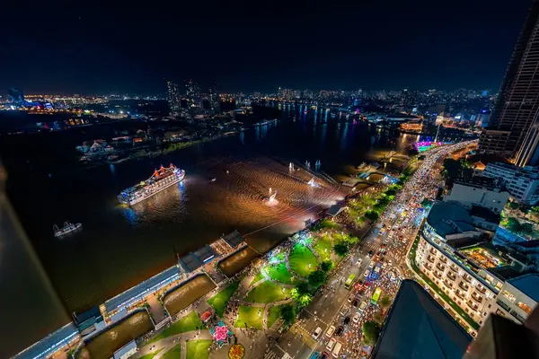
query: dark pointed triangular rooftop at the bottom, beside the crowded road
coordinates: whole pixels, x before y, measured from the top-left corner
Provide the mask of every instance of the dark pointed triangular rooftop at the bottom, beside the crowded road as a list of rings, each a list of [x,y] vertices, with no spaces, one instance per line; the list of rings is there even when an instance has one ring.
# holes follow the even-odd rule
[[[418,283],[402,281],[373,358],[462,358],[472,337]]]

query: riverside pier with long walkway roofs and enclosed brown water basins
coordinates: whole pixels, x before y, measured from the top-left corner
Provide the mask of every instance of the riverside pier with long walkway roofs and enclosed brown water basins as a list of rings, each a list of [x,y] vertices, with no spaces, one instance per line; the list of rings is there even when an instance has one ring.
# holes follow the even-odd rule
[[[128,350],[130,342],[166,328],[176,320],[176,316],[192,311],[202,298],[215,295],[223,285],[228,285],[226,273],[237,272],[251,262],[251,259],[243,260],[247,258],[243,254],[246,251],[256,253],[247,246],[239,232],[223,235],[217,241],[178,258],[178,264],[101,305],[83,313],[74,313],[73,322],[16,357],[117,357],[120,352]],[[221,271],[223,263],[224,267],[234,269]]]

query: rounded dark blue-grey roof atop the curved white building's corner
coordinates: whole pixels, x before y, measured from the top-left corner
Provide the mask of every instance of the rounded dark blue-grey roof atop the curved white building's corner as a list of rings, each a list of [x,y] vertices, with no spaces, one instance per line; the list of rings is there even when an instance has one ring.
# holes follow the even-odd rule
[[[442,237],[447,234],[476,231],[468,210],[456,202],[435,203],[430,209],[427,222]]]

